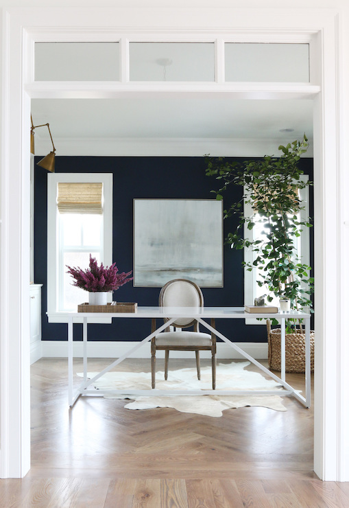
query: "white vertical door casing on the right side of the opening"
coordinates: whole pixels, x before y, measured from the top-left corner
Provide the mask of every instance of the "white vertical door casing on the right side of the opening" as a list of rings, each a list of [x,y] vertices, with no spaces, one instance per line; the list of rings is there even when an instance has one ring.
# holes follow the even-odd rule
[[[333,41],[328,44],[328,40]],[[343,366],[341,345],[348,340],[344,332],[346,314],[341,314],[341,301],[346,287],[341,266],[341,180],[344,160],[341,157],[339,107],[339,32],[337,15],[324,27],[319,38],[322,54],[322,82],[324,93],[315,100],[314,117],[314,205],[315,205],[315,403],[314,403],[314,464],[315,473],[327,481],[348,481],[345,476],[349,464],[346,456],[349,443],[347,429],[341,428],[349,386]],[[344,69],[343,69],[344,71]],[[318,145],[317,145],[318,143]],[[331,168],[332,165],[332,168]],[[348,194],[348,191],[347,191]],[[344,262],[344,259],[342,260]],[[323,274],[322,277],[318,277]],[[348,351],[347,351],[348,353]],[[348,365],[348,358],[346,359]],[[345,466],[347,464],[347,466]],[[348,469],[347,469],[348,473]]]

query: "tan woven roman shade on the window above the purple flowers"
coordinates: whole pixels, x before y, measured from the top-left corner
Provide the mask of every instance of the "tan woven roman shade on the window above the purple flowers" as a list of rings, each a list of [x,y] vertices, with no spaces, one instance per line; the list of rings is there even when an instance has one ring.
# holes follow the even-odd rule
[[[103,213],[102,183],[58,183],[60,213]]]

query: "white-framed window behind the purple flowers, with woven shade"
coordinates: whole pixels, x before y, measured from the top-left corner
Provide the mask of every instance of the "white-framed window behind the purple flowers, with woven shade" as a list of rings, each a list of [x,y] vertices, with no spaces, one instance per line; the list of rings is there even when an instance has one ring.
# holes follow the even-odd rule
[[[89,255],[112,264],[112,174],[53,173],[47,189],[47,311],[77,311],[86,292],[67,265],[87,268]],[[111,299],[111,296],[110,296]]]

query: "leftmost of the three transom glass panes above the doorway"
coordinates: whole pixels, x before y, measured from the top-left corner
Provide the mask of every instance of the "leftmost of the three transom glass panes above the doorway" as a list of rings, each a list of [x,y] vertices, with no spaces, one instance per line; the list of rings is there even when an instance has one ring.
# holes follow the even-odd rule
[[[36,81],[119,81],[119,43],[35,43]]]

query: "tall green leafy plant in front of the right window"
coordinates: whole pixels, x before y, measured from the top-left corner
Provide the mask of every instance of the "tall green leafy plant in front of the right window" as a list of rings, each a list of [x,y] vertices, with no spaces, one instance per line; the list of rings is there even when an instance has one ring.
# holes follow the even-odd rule
[[[304,227],[311,227],[310,218],[300,220],[300,211],[304,207],[299,191],[311,185],[300,178],[303,172],[298,168],[300,156],[309,146],[307,141],[304,136],[302,141],[279,146],[280,157],[265,156],[243,163],[206,156],[206,175],[215,176],[223,183],[219,190],[211,191],[216,194],[216,199],[223,199],[228,185],[244,188],[239,203],[232,203],[224,210],[224,218],[233,214],[239,216],[237,230],[228,233],[226,242],[234,249],[252,249],[254,261],[243,262],[243,266],[248,270],[257,269],[260,275],[258,285],[266,286],[276,297],[288,298],[294,310],[311,309],[312,306],[311,267],[298,258],[295,244]],[[250,216],[244,214],[244,203],[252,207]],[[263,222],[265,238],[243,238],[243,228],[252,230],[258,222]],[[272,301],[272,295],[267,296],[267,301]],[[287,320],[287,332],[291,333],[296,324],[296,320]]]

